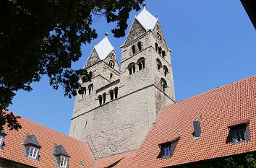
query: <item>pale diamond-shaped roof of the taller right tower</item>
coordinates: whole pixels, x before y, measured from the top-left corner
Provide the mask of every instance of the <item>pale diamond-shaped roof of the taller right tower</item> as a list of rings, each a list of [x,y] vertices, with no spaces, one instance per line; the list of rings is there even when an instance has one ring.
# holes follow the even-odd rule
[[[135,17],[138,22],[140,22],[140,25],[145,28],[145,30],[153,30],[155,27],[156,22],[158,22],[158,19],[156,19],[150,12],[148,12],[145,7],[140,12],[140,14]]]

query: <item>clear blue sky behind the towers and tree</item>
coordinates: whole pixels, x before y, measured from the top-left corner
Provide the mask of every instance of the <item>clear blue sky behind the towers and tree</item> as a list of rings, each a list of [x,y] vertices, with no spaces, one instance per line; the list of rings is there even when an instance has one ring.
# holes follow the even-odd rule
[[[158,15],[172,50],[176,102],[256,74],[256,32],[239,0],[145,2],[146,9]],[[129,27],[135,13],[130,13]],[[101,41],[105,32],[121,60],[119,46],[125,37],[115,38],[111,34],[114,26],[107,24],[104,17],[95,20],[92,27],[98,32],[98,39],[82,45],[82,57],[73,63],[73,68],[84,66],[94,44]],[[68,134],[74,97],[64,97],[63,89],[52,89],[46,76],[32,87],[32,92],[17,92],[9,110]]]

